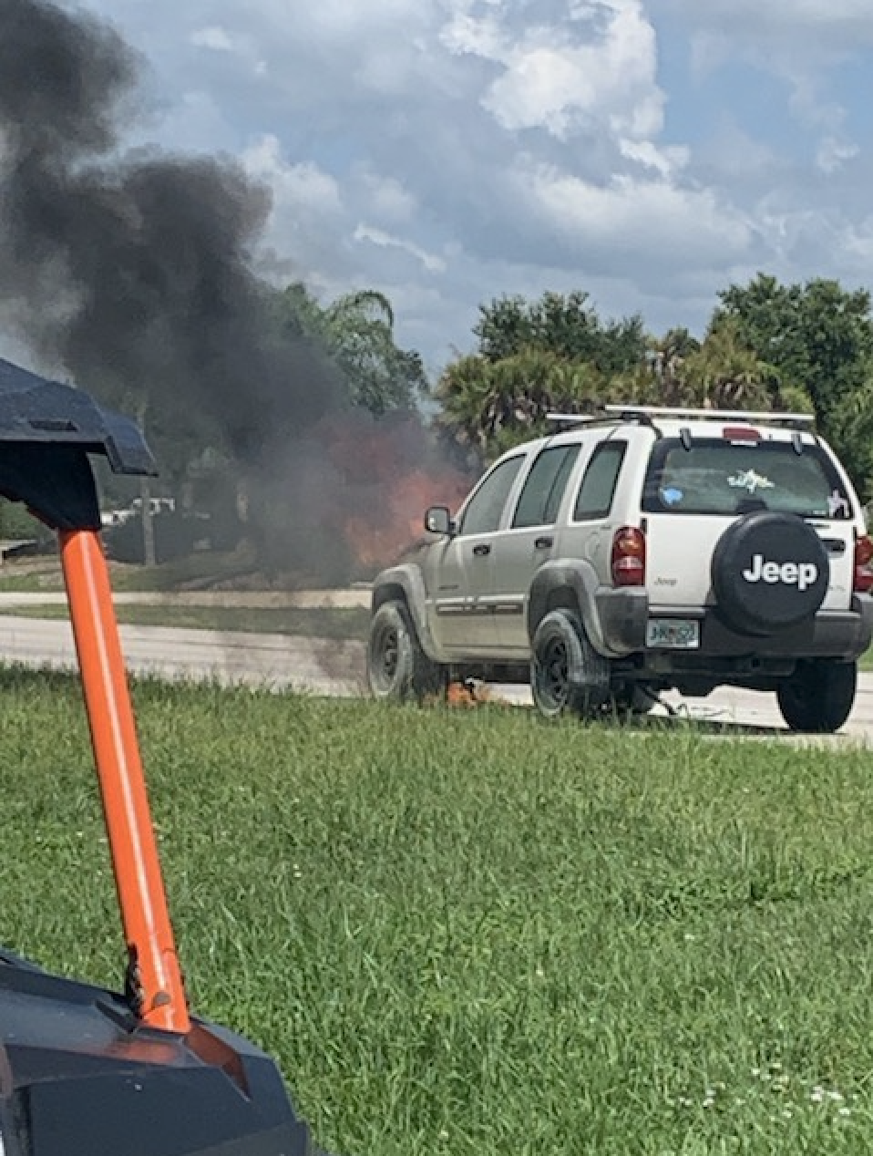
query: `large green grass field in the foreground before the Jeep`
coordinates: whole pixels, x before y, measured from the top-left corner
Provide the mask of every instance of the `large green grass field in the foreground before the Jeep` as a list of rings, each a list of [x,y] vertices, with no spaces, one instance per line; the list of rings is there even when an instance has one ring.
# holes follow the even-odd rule
[[[0,941],[117,985],[77,686],[0,682]],[[278,1058],[330,1150],[870,1150],[868,754],[135,699],[194,1003]]]

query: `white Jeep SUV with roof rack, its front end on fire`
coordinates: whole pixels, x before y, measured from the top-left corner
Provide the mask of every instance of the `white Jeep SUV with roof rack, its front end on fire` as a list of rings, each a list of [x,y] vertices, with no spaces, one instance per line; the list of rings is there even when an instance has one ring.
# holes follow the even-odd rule
[[[775,691],[830,732],[873,635],[873,542],[833,451],[797,414],[610,406],[551,415],[456,517],[373,587],[367,677],[420,698],[528,679],[546,716],[662,691]]]

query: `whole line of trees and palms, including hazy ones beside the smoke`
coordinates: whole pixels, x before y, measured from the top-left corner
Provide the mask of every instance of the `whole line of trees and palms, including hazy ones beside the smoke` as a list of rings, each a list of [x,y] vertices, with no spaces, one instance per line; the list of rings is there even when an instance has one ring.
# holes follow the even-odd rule
[[[271,290],[275,340],[318,348],[345,383],[350,409],[376,418],[426,414],[455,461],[480,468],[547,428],[550,410],[610,402],[814,414],[865,498],[873,496],[873,313],[865,289],[759,274],[722,290],[702,338],[654,335],[637,316],[604,319],[583,290],[495,297],[478,310],[471,353],[435,383],[402,348],[388,298],[375,290],[320,302],[304,284]],[[102,391],[98,391],[102,392]],[[132,399],[109,398],[130,409]],[[423,402],[427,402],[423,405]],[[135,402],[134,408],[135,408]],[[139,414],[170,487],[233,462],[221,430],[191,413]]]

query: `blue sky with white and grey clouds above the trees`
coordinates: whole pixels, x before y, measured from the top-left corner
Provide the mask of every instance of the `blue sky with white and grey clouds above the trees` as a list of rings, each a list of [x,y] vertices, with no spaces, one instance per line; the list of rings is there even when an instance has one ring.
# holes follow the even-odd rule
[[[239,158],[264,273],[383,291],[434,375],[503,294],[702,334],[759,271],[873,288],[871,0],[82,7],[144,58],[130,144]]]

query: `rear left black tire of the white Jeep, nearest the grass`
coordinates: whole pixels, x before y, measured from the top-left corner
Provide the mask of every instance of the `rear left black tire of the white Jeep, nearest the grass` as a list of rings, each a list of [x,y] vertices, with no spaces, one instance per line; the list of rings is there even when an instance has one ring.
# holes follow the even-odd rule
[[[609,696],[609,661],[591,646],[577,614],[551,610],[531,645],[530,688],[539,713],[590,716]]]

